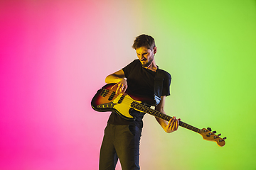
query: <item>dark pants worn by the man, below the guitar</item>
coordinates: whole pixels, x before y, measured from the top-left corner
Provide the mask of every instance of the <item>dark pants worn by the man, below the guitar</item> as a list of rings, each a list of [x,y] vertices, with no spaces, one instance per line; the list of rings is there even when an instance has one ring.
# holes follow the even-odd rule
[[[107,124],[100,149],[100,170],[114,170],[119,158],[122,170],[139,169],[139,140],[135,125]]]

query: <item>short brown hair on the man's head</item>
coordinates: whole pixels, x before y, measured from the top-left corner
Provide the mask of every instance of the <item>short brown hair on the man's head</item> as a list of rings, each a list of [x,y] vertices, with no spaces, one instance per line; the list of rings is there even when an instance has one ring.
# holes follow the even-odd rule
[[[142,34],[135,38],[132,47],[135,50],[139,47],[147,47],[148,49],[153,50],[153,48],[156,47],[156,45],[154,42],[154,38],[152,38],[150,35]]]

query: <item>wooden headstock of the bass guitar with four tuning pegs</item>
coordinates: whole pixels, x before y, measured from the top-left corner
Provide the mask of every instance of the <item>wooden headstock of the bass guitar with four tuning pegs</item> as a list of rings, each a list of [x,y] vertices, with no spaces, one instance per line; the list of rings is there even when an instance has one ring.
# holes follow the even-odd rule
[[[203,136],[204,140],[215,141],[220,147],[225,145],[225,139],[227,139],[227,137],[221,138],[221,134],[215,135],[216,131],[211,132],[210,128],[203,128],[199,133]]]

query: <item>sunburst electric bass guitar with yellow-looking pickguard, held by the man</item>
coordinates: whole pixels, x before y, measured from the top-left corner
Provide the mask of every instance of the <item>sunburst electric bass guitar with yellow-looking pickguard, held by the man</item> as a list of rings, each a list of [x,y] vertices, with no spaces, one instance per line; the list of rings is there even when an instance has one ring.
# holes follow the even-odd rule
[[[117,87],[114,85],[115,84],[106,84],[97,91],[91,101],[91,106],[95,111],[115,111],[127,120],[134,120],[134,117],[129,114],[129,109],[133,108],[136,111],[154,115],[156,118],[161,118],[168,122],[172,118],[169,115],[149,107],[154,105],[154,99],[136,96],[129,91],[126,91],[125,94],[116,94],[115,91]],[[214,141],[220,147],[225,145],[226,137],[221,138],[221,134],[215,135],[216,131],[211,132],[210,128],[198,129],[192,125],[188,125],[188,123],[182,122],[181,120],[178,121],[178,125],[188,130],[192,130],[193,132],[199,133],[202,135],[204,140]]]

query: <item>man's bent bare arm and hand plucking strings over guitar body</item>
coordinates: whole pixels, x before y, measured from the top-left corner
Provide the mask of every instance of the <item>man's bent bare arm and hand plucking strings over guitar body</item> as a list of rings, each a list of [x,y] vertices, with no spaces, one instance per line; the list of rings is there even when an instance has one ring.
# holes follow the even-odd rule
[[[120,69],[117,72],[114,72],[113,74],[110,74],[106,77],[105,82],[107,84],[110,83],[116,83],[114,86],[117,86],[116,93],[124,94],[124,92],[127,90],[128,84],[127,80],[125,78],[124,71]],[[112,88],[114,87],[112,86]]]

